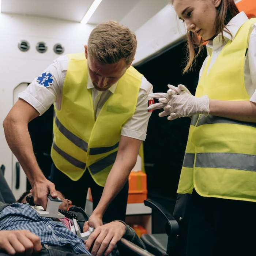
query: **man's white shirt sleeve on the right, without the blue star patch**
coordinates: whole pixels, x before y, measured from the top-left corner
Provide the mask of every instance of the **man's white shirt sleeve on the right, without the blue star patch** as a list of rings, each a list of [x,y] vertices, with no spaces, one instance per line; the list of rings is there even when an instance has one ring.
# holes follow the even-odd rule
[[[151,99],[148,94],[152,92],[152,84],[143,76],[135,112],[123,125],[121,135],[143,141],[146,139],[148,120],[152,113],[147,110],[148,101]]]

